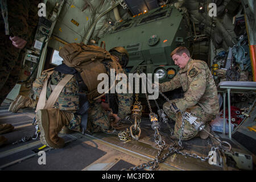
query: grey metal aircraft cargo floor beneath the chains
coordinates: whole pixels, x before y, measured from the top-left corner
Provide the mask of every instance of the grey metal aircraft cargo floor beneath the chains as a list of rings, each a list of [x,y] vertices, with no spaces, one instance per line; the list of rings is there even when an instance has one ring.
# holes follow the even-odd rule
[[[3,134],[8,139],[7,143],[0,147],[0,169],[1,170],[122,170],[139,164],[154,160],[158,149],[154,143],[154,131],[151,129],[149,119],[142,118],[141,137],[138,141],[127,140],[122,142],[115,134],[95,133],[85,134],[73,132],[71,134],[60,134],[66,144],[64,148],[53,149],[46,147],[46,165],[39,165],[40,156],[33,150],[42,147],[39,138],[12,144],[24,136],[35,133],[35,126],[31,124],[34,118],[34,110],[23,109],[19,113],[9,113],[9,105],[0,107],[0,123],[11,123],[15,129],[10,133]],[[173,126],[173,123],[170,123]],[[168,131],[161,132],[167,146],[173,144]],[[237,143],[224,139],[232,144],[236,151],[243,151]],[[184,151],[199,156],[207,156],[210,151],[212,138],[202,140],[193,138],[184,141]],[[168,148],[168,147],[167,147]],[[167,148],[164,151],[167,152]],[[243,151],[244,152],[244,151]],[[211,166],[208,161],[188,156],[174,154],[168,157],[164,163],[159,165],[159,170],[222,170],[222,167]],[[145,168],[150,170],[150,168]]]

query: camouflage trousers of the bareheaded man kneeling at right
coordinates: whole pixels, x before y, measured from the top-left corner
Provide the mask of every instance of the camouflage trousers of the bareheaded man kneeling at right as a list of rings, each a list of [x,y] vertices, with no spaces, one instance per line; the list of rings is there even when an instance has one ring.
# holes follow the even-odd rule
[[[176,138],[179,139],[179,136],[181,135],[181,125],[182,125],[181,113],[175,114],[170,109],[170,102],[164,103],[163,110],[168,115],[168,117],[170,119],[175,121],[174,135]],[[190,107],[186,111],[188,113],[191,113],[193,116],[199,118],[201,120],[201,122],[205,123],[205,125],[209,125],[210,121],[212,121],[212,119],[214,119],[214,117],[215,117],[214,115],[205,113],[204,110],[199,105]],[[184,120],[184,131],[183,131],[181,140],[192,139],[192,138],[196,137],[196,135],[198,133],[199,132],[187,120]]]

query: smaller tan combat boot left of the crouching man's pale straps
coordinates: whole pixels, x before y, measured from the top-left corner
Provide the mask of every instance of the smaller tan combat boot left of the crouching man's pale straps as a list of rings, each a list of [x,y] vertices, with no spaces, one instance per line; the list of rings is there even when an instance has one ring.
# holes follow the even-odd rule
[[[26,96],[17,96],[15,100],[11,103],[9,106],[9,111],[11,113],[16,113],[19,109],[23,109],[25,107],[35,107],[37,104],[37,101],[32,100],[29,97]]]

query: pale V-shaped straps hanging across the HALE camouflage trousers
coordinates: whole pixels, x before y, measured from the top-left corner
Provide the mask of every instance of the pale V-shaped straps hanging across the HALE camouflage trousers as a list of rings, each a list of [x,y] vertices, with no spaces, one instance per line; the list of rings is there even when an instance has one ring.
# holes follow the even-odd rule
[[[64,86],[73,78],[74,75],[66,75],[59,84],[56,85],[55,89],[53,89],[51,95],[49,96],[48,100],[46,101],[46,93],[47,93],[47,82],[49,77],[52,75],[54,71],[48,72],[48,76],[46,78],[46,81],[44,82],[44,86],[42,89],[42,92],[40,94],[38,105],[36,106],[36,112],[40,109],[49,109],[52,108],[55,104],[57,98],[59,97],[59,94],[61,90],[63,90]]]

